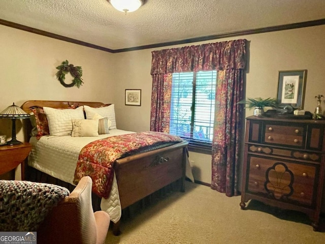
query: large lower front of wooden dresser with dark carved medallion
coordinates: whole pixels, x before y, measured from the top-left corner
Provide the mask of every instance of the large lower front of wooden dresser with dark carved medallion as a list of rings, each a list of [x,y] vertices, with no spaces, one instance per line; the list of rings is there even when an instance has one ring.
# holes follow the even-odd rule
[[[318,164],[293,163],[248,155],[248,192],[279,201],[312,206]]]

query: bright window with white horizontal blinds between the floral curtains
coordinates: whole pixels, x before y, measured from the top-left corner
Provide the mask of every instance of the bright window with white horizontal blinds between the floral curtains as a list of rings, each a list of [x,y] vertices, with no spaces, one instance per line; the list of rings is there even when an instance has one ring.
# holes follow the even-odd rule
[[[189,148],[211,150],[216,71],[174,73],[170,134],[189,142]]]

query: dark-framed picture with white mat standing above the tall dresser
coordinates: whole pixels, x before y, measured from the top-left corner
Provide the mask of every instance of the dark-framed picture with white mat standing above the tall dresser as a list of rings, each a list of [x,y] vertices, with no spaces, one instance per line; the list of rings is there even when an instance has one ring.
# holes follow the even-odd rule
[[[277,102],[280,108],[287,105],[304,108],[307,70],[279,71]]]

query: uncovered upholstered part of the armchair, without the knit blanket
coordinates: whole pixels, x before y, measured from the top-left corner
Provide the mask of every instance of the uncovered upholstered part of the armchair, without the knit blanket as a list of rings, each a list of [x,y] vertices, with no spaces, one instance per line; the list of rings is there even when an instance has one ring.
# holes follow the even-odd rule
[[[110,217],[105,211],[93,212],[92,180],[83,177],[77,187],[47,215],[37,231],[38,243],[104,243]]]

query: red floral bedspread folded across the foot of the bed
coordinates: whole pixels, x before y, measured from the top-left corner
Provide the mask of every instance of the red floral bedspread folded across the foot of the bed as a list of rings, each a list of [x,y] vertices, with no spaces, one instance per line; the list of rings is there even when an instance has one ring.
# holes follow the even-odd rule
[[[74,184],[86,175],[92,179],[92,191],[108,198],[114,177],[114,162],[138,151],[166,142],[181,142],[178,136],[162,132],[139,132],[93,141],[84,146],[79,155]]]

